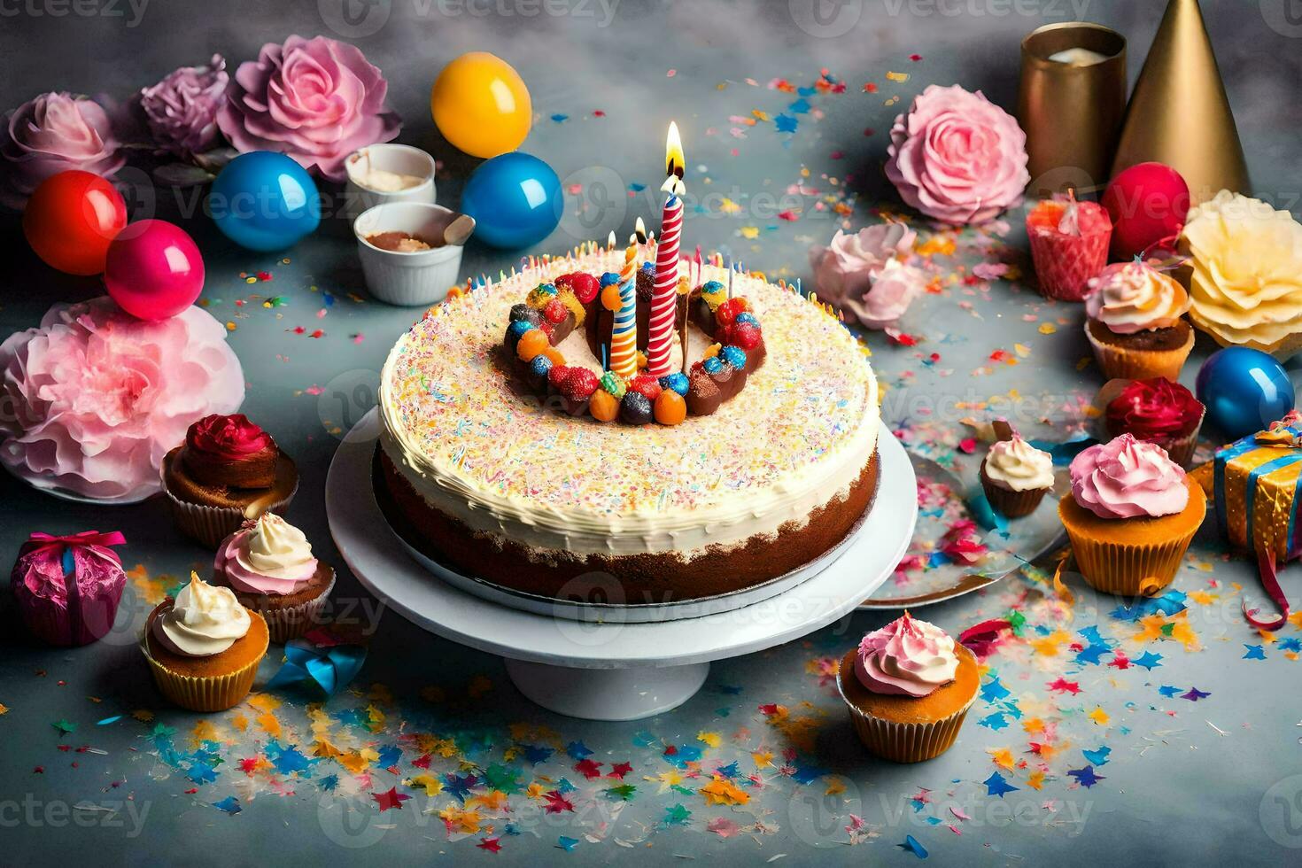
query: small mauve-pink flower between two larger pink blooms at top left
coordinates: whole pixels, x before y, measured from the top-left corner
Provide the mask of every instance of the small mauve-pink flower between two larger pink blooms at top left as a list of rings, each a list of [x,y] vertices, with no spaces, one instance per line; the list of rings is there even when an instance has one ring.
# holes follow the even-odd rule
[[[217,108],[229,81],[227,61],[214,55],[207,66],[181,66],[142,90],[141,108],[159,148],[190,159],[216,147]]]

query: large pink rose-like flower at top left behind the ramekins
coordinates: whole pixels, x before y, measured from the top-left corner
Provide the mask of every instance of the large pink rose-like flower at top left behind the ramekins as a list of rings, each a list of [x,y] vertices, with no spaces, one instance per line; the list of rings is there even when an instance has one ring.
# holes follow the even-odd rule
[[[387,111],[388,82],[348,43],[290,36],[240,64],[217,125],[236,150],[280,151],[331,181],[359,147],[397,138],[402,121]]]

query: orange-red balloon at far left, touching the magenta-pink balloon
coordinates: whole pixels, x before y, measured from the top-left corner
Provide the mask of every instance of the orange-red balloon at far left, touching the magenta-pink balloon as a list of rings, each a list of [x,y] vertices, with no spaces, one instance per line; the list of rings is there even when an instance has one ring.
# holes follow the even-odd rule
[[[70,169],[40,182],[22,212],[22,234],[47,265],[98,275],[113,237],[126,225],[126,203],[104,178]]]

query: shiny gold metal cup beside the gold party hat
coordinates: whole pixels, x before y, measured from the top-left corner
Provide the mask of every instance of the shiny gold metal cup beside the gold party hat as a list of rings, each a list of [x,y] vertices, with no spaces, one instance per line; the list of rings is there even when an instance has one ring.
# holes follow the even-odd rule
[[[1094,62],[1049,60],[1070,48]],[[1026,130],[1030,193],[1048,197],[1107,185],[1126,111],[1126,38],[1079,21],[1046,25],[1022,40],[1017,120]]]

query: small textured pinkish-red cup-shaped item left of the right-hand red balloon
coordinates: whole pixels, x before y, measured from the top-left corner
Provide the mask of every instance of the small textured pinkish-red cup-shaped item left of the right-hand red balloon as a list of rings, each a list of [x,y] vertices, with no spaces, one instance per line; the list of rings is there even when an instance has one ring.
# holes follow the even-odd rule
[[[1095,202],[1044,199],[1026,215],[1026,234],[1039,278],[1040,294],[1078,302],[1090,292],[1088,281],[1108,264],[1112,219]]]

